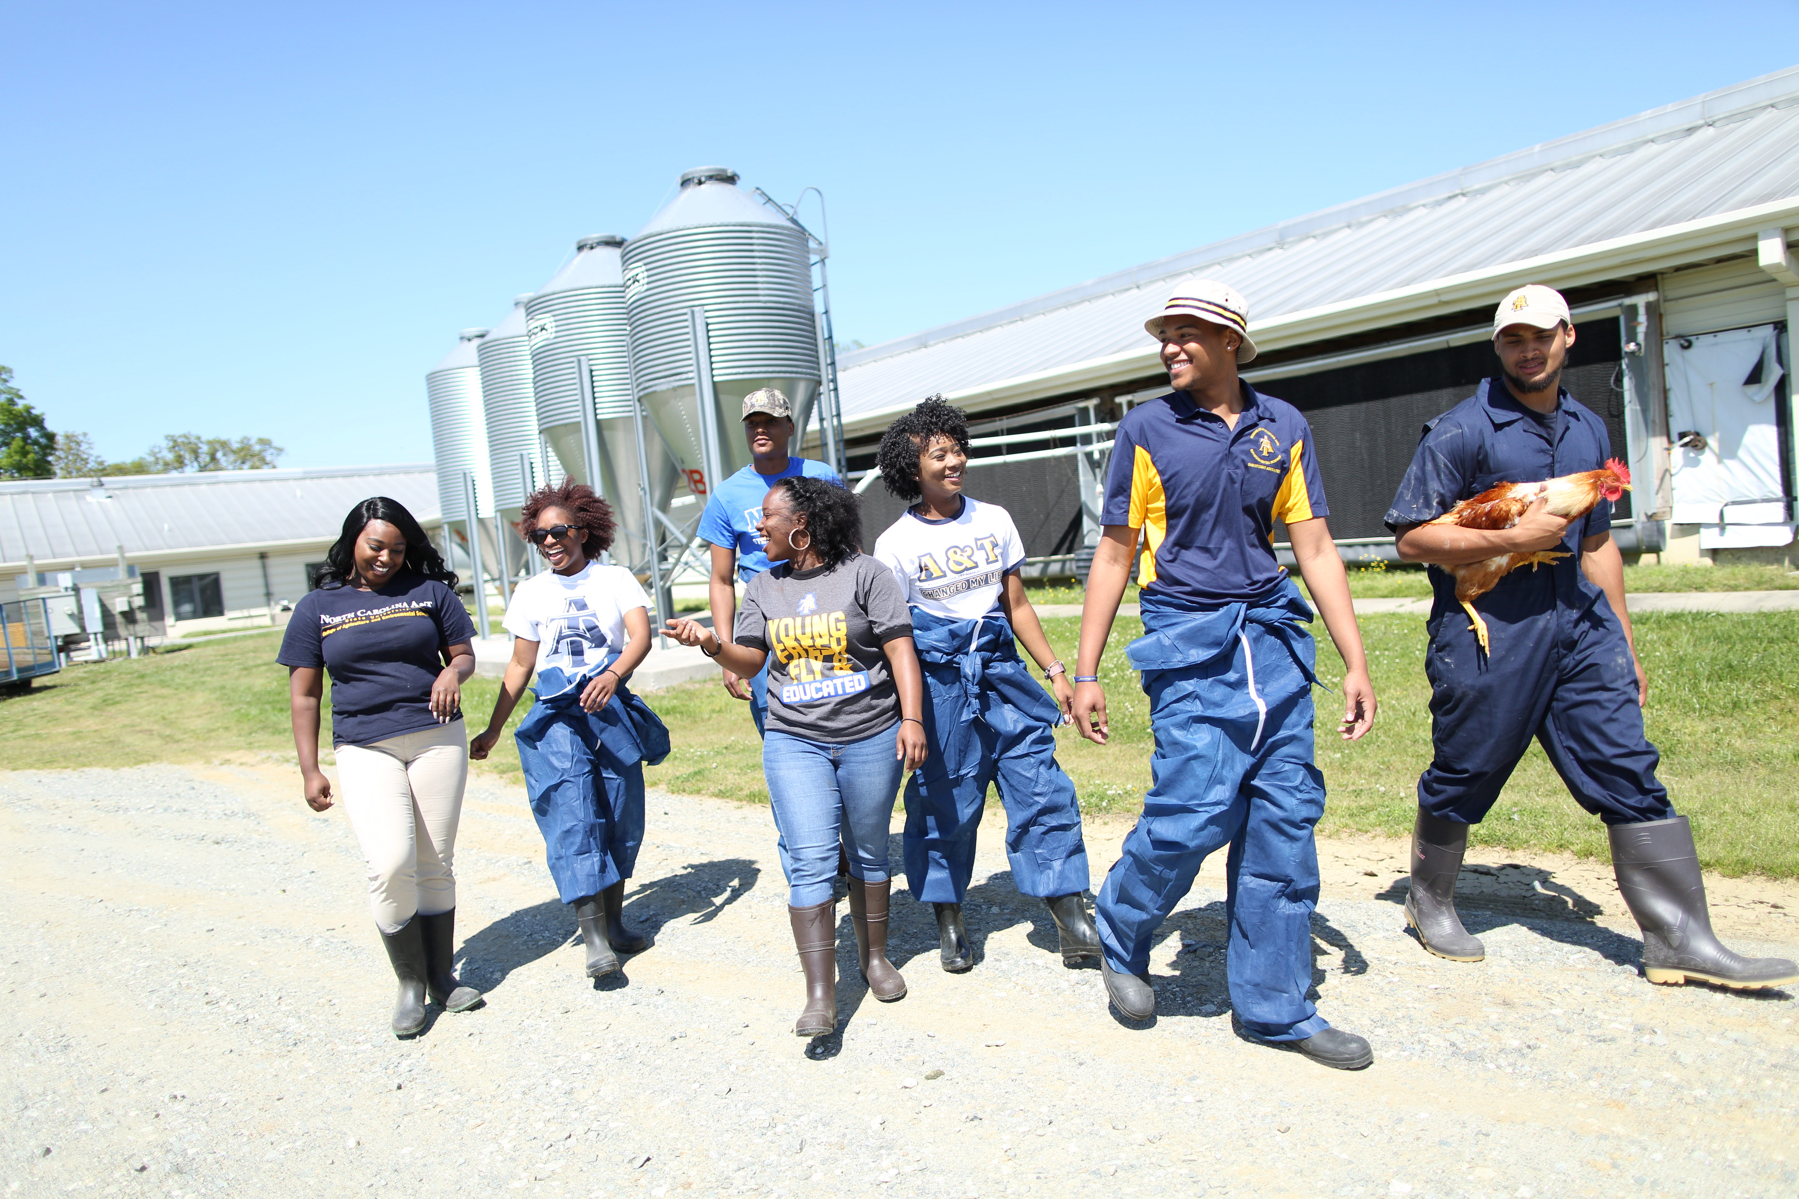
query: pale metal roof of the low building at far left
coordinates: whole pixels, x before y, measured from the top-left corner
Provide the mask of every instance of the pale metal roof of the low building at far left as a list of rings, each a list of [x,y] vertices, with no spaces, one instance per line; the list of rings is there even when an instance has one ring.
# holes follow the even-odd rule
[[[344,514],[369,496],[399,500],[419,520],[439,520],[430,464],[340,469],[203,471],[43,478],[0,484],[0,563],[40,564],[201,550],[257,550],[335,539]]]

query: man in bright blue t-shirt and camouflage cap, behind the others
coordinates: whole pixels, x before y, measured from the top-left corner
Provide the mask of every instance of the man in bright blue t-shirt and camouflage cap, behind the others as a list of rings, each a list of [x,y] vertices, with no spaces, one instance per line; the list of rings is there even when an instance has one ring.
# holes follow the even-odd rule
[[[730,642],[732,618],[738,613],[738,579],[748,582],[768,570],[763,537],[756,532],[763,520],[763,496],[783,478],[804,475],[828,478],[838,487],[844,480],[824,462],[790,457],[793,440],[793,404],[772,386],[743,397],[743,437],[750,442],[750,464],[721,482],[700,516],[700,536],[712,543],[712,631],[720,642]],[[763,732],[768,715],[768,667],[752,679],[739,679],[725,671],[725,690],[732,699],[748,699],[756,732]]]

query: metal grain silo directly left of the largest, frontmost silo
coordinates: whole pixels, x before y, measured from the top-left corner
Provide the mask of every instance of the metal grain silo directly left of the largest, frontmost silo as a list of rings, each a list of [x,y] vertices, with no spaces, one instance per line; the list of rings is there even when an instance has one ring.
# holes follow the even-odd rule
[[[649,500],[666,507],[676,467],[631,395],[631,363],[619,268],[622,237],[576,243],[576,255],[525,304],[538,433],[563,473],[595,487],[619,523],[613,557],[644,566],[644,471]],[[639,430],[644,453],[639,455]]]

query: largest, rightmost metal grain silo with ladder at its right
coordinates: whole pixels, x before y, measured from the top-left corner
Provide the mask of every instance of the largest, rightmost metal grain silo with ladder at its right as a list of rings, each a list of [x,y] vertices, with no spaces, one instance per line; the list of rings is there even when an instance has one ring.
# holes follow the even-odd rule
[[[624,244],[631,374],[693,491],[748,466],[743,397],[775,386],[793,401],[795,444],[819,394],[806,234],[702,167]]]

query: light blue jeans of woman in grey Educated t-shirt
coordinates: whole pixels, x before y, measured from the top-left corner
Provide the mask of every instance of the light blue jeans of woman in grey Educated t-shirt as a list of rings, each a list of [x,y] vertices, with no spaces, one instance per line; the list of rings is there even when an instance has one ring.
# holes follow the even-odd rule
[[[887,879],[887,827],[903,766],[892,724],[851,742],[768,730],[763,773],[781,834],[788,904],[811,908],[831,899],[838,843],[849,854],[853,875],[867,883]]]

